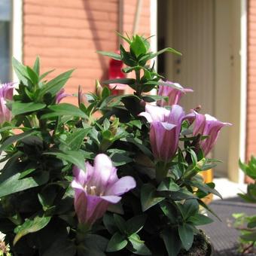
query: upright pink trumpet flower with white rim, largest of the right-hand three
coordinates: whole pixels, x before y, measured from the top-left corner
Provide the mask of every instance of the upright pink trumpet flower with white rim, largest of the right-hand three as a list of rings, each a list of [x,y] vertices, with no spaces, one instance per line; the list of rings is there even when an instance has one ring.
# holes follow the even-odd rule
[[[193,118],[194,114],[185,115],[180,105],[172,105],[170,110],[146,105],[145,110],[139,116],[145,117],[151,123],[149,136],[154,157],[167,162],[175,156],[178,149],[182,121]]]

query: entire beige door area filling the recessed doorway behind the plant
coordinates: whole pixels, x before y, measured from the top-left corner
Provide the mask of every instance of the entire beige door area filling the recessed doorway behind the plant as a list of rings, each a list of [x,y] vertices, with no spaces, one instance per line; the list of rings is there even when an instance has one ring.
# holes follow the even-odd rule
[[[165,46],[182,53],[181,57],[169,55],[164,59],[166,77],[194,90],[183,97],[181,105],[187,111],[201,105],[201,113],[227,122],[231,121],[231,3],[232,0],[159,2],[160,11],[167,10],[166,20],[162,21]],[[160,34],[163,28],[159,29]],[[228,128],[221,131],[212,152],[212,157],[223,161],[215,168],[221,176],[227,176],[229,133]]]

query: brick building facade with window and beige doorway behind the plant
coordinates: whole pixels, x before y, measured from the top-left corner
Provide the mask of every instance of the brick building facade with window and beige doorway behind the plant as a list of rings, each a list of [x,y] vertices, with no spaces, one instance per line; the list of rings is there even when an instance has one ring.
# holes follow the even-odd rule
[[[195,90],[185,108],[233,123],[212,153],[224,160],[215,172],[245,181],[238,159],[256,154],[256,0],[1,0],[0,80],[12,78],[11,56],[29,66],[40,56],[42,72],[56,69],[49,79],[75,68],[68,93],[94,90],[109,67],[96,51],[117,50],[116,31],[183,53],[159,58],[159,71]]]

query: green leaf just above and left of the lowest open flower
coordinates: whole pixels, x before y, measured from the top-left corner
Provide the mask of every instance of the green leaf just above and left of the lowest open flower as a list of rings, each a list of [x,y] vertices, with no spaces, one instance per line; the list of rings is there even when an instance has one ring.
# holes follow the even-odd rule
[[[51,154],[60,160],[73,163],[85,171],[84,155],[80,151],[44,152],[44,154]]]

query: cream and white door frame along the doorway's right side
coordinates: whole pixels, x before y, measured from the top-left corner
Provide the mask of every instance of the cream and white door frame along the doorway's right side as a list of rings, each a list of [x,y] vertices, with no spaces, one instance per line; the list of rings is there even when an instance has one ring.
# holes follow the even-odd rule
[[[216,0],[218,1],[218,0]],[[222,0],[221,0],[222,1]],[[246,113],[247,113],[247,0],[233,0],[232,28],[234,65],[232,72],[233,99],[231,111],[230,145],[228,151],[227,175],[231,181],[245,183],[245,175],[239,169],[238,160],[245,161]],[[172,0],[167,5],[172,6]],[[171,23],[171,17],[163,17]],[[153,22],[155,17],[151,17]],[[171,32],[171,31],[170,31]],[[166,66],[172,67],[172,59],[166,59]],[[168,78],[168,74],[166,74]],[[216,95],[215,97],[218,97]]]

